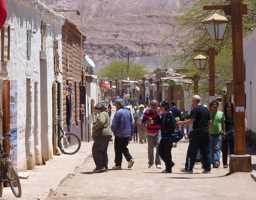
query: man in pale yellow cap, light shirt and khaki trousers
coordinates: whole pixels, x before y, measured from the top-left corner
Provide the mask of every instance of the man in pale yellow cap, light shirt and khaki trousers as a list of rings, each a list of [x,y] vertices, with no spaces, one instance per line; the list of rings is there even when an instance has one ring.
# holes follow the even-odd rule
[[[146,126],[142,124],[142,118],[144,116],[144,105],[139,106],[139,110],[136,110],[134,114],[134,126],[137,125],[138,122],[138,136],[139,136],[139,144],[147,143],[147,135],[146,135]],[[144,140],[144,141],[143,141]]]

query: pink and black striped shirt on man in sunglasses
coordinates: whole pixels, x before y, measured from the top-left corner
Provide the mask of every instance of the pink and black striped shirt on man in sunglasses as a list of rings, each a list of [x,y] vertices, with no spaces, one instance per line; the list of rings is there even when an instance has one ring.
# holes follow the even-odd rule
[[[163,113],[163,112],[160,112],[160,114],[161,113]],[[145,111],[143,118],[142,118],[142,124],[146,125],[147,120],[149,120],[149,118],[152,118],[152,120],[153,120],[153,124],[151,124],[150,126],[147,126],[146,133],[154,134],[154,133],[158,133],[161,131],[160,123],[155,122],[156,115],[157,115],[157,112],[154,112],[151,108]]]

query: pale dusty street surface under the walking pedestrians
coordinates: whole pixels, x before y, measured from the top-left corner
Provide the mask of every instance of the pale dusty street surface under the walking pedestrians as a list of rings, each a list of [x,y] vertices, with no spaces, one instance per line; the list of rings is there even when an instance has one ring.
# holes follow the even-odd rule
[[[114,112],[112,113],[113,118]],[[161,173],[165,169],[148,169],[147,144],[128,145],[135,160],[132,169],[123,158],[122,170],[114,166],[114,144],[109,143],[109,172],[95,173],[93,158],[89,158],[76,169],[74,176],[67,179],[48,200],[81,199],[255,199],[256,182],[251,173],[227,175],[229,169],[212,169],[211,174],[202,174],[201,164],[196,164],[194,173],[182,173],[188,141],[184,138],[172,149],[175,166],[172,174]],[[256,149],[247,146],[256,169]],[[221,158],[222,159],[222,158]],[[66,193],[64,195],[64,193]]]

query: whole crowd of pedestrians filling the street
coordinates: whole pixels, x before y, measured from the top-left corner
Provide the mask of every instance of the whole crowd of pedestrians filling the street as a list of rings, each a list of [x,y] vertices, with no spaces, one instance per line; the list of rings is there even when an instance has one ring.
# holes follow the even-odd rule
[[[141,96],[141,95],[140,95]],[[177,128],[182,129],[185,140],[189,140],[185,168],[181,169],[184,173],[193,173],[195,162],[202,163],[203,173],[211,173],[211,165],[218,168],[221,164],[221,144],[223,151],[223,167],[227,168],[228,148],[230,154],[234,154],[234,107],[233,103],[225,105],[224,113],[218,110],[219,102],[211,102],[211,111],[206,105],[200,103],[199,95],[194,95],[191,99],[193,109],[185,111],[178,109],[176,102],[158,102],[153,99],[150,107],[143,105],[143,100],[139,97],[138,102],[142,103],[135,106],[137,102],[135,95],[123,94],[105,95],[104,103],[95,105],[94,109],[98,117],[93,122],[92,136],[94,144],[92,148],[93,159],[95,162],[94,172],[108,172],[108,142],[114,135],[115,166],[112,169],[121,169],[123,155],[131,168],[135,161],[129,153],[128,144],[133,140],[134,143],[146,144],[148,152],[148,168],[162,169],[161,161],[165,163],[163,173],[172,173],[175,163],[172,161],[172,148],[177,147],[173,143],[172,134]],[[146,102],[148,99],[145,99]],[[110,101],[116,106],[112,124],[110,125],[111,109]],[[106,104],[108,102],[109,104]],[[128,105],[134,108],[133,114]],[[229,137],[226,137],[228,133]],[[230,137],[231,135],[231,137]],[[176,141],[175,141],[176,142]],[[155,148],[155,153],[154,153]]]

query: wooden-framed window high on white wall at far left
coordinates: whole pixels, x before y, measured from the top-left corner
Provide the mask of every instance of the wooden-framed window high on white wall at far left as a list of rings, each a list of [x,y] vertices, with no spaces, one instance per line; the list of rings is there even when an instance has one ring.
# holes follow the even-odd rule
[[[1,60],[10,62],[10,24],[4,24],[1,34]]]

